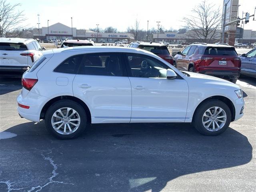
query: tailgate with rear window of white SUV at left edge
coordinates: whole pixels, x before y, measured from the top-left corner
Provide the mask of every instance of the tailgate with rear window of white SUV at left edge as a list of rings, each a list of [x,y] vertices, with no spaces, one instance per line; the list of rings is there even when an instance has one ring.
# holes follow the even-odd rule
[[[20,55],[28,48],[23,43],[0,42],[0,66],[28,66],[28,57]]]

